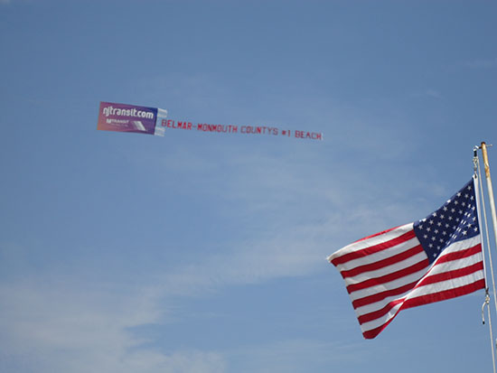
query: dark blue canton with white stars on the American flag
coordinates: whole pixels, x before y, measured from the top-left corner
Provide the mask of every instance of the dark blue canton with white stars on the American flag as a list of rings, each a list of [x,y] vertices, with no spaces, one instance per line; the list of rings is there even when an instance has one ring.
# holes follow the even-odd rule
[[[425,219],[414,222],[414,231],[430,264],[452,243],[480,234],[473,179]]]

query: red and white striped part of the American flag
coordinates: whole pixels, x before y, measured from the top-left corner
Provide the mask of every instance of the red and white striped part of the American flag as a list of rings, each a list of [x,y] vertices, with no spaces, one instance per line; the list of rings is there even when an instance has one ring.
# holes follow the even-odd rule
[[[366,339],[400,310],[485,287],[480,235],[446,247],[430,265],[413,223],[362,238],[328,260],[342,274]]]

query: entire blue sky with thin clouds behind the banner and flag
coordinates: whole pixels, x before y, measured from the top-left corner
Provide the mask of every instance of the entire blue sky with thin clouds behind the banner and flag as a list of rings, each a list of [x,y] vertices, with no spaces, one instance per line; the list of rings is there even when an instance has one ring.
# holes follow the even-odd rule
[[[1,0],[0,370],[492,371],[483,291],[364,340],[326,256],[427,216],[497,144],[496,16]],[[324,138],[98,131],[100,101]]]

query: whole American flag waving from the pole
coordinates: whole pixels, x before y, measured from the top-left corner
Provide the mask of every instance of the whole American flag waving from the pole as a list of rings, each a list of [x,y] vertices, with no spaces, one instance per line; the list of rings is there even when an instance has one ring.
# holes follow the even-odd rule
[[[366,339],[397,314],[485,287],[477,179],[427,218],[362,238],[328,260],[338,268]]]

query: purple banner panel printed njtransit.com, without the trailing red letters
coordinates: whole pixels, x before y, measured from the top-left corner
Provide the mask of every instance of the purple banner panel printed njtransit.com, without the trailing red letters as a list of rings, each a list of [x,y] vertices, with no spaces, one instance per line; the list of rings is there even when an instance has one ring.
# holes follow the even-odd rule
[[[157,108],[155,107],[100,102],[97,129],[159,135],[155,133],[156,120]]]

